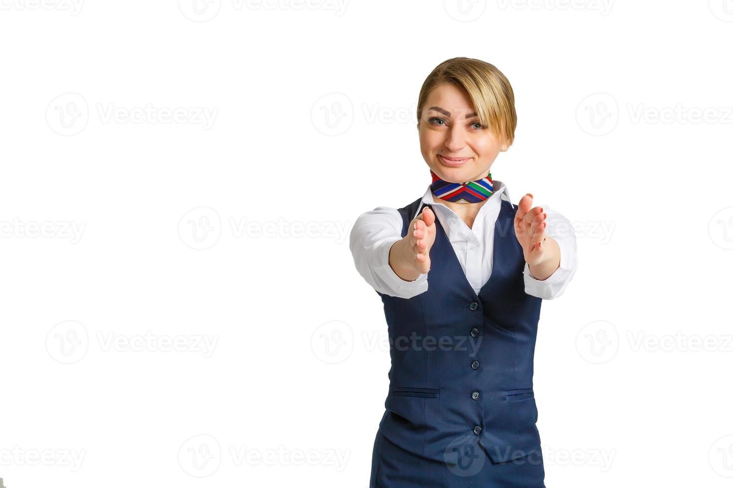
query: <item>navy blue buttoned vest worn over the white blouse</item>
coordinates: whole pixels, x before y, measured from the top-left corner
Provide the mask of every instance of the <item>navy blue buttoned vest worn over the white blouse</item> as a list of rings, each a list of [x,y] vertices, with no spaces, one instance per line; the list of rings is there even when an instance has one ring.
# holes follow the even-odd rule
[[[421,200],[399,209],[402,237]],[[524,291],[516,211],[501,200],[493,269],[478,295],[437,218],[428,290],[410,299],[377,292],[391,357],[380,431],[414,454],[445,462],[466,435],[493,462],[539,451],[532,375],[542,299]]]

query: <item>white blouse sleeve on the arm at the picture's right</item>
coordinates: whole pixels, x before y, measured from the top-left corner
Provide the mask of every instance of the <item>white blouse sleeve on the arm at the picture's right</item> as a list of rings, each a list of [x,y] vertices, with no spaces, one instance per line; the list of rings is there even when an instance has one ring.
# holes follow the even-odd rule
[[[548,214],[546,222],[548,226],[545,234],[555,239],[560,248],[560,267],[550,274],[548,279],[535,279],[529,271],[529,265],[524,263],[524,291],[531,296],[537,296],[543,300],[556,299],[561,296],[567,284],[570,283],[578,269],[578,252],[575,242],[575,230],[570,220],[563,217],[558,211],[542,206]]]

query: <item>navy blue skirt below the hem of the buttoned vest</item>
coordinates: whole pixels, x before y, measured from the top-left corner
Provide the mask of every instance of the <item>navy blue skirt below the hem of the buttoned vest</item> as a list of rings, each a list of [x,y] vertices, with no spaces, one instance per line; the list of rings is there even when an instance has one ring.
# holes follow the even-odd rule
[[[470,441],[469,441],[470,442]],[[377,430],[369,488],[545,488],[542,453],[493,463],[481,446],[460,446],[456,464],[405,451]]]

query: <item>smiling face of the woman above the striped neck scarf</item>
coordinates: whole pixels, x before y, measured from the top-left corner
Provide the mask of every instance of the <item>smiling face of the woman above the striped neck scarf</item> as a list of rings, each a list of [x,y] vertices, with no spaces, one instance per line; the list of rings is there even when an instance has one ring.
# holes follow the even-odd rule
[[[433,173],[452,183],[483,178],[499,151],[509,149],[504,138],[481,126],[468,93],[451,83],[430,91],[418,132],[425,162]]]

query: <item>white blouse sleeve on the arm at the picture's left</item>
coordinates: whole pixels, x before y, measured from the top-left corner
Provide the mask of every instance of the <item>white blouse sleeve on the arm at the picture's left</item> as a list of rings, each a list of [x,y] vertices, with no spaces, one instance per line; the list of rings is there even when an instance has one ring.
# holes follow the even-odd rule
[[[427,273],[414,281],[405,281],[389,266],[389,249],[401,239],[399,211],[380,206],[356,219],[349,236],[349,248],[357,271],[372,288],[379,293],[410,299],[427,291]]]

